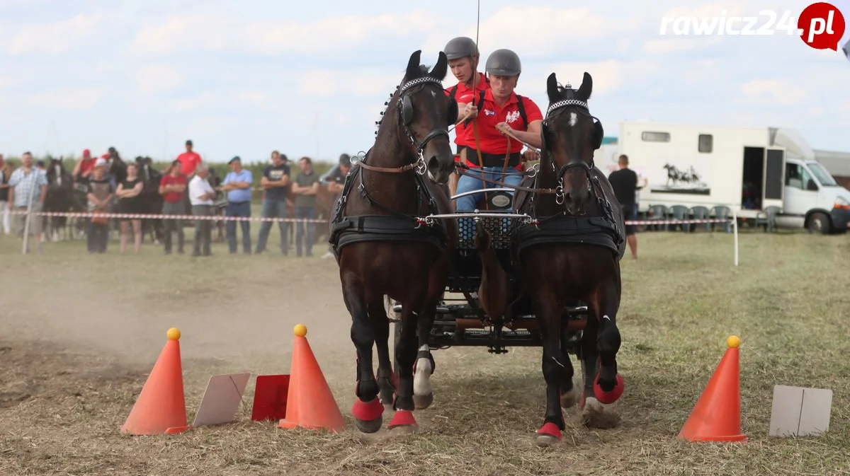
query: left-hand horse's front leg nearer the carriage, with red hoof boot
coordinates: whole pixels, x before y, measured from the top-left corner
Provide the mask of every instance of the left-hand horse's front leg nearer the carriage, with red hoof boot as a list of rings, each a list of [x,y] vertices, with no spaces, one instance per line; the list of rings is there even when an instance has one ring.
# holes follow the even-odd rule
[[[418,302],[416,302],[418,301]],[[422,311],[422,300],[407,300],[401,305],[401,338],[395,347],[395,360],[399,362],[399,389],[393,402],[395,414],[388,429],[395,434],[411,434],[418,429],[413,410],[413,363],[416,361],[416,328]]]

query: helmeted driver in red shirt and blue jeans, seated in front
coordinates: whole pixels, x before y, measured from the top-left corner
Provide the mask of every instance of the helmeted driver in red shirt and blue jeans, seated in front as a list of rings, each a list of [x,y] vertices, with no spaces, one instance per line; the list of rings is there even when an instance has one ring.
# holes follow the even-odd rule
[[[510,128],[515,137],[540,148],[543,115],[534,101],[513,92],[522,72],[517,53],[509,49],[498,49],[490,53],[485,70],[490,79],[490,88],[479,93],[480,98],[476,101],[481,104],[475,117],[479,131],[479,149],[476,150],[475,143],[468,146],[466,164],[473,168],[474,176],[478,176],[479,170],[483,168],[484,176],[490,180],[519,185],[522,176],[501,175],[505,166],[505,155],[508,155],[505,170],[515,172],[522,170],[524,161],[536,160],[536,152],[526,150],[524,154],[520,154],[523,144],[502,134],[496,126]],[[483,164],[479,164],[479,155]],[[482,187],[479,178],[461,176],[457,183],[457,193],[473,192],[481,190]],[[495,185],[488,183],[487,187],[493,188]],[[481,197],[482,194],[479,193],[460,197],[456,199],[456,209],[474,210],[475,202]]]

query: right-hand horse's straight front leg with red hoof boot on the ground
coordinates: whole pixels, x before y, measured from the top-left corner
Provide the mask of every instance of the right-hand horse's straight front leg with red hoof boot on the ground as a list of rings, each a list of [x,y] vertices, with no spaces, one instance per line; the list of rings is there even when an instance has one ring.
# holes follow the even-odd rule
[[[553,289],[541,289],[536,296],[535,313],[540,324],[543,342],[543,378],[546,379],[546,417],[543,426],[535,434],[535,443],[540,446],[557,445],[564,431],[564,413],[561,411],[561,389],[564,385],[564,372],[570,364],[561,353],[561,316],[564,303],[558,302]],[[571,372],[566,372],[571,373]],[[571,378],[571,376],[570,376]]]

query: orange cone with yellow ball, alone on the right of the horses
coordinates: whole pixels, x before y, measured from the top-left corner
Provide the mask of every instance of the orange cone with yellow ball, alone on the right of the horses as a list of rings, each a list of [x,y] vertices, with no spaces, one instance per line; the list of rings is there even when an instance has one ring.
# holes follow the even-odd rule
[[[746,435],[741,433],[740,343],[741,339],[736,335],[726,339],[728,349],[679,437],[689,441],[746,442]]]

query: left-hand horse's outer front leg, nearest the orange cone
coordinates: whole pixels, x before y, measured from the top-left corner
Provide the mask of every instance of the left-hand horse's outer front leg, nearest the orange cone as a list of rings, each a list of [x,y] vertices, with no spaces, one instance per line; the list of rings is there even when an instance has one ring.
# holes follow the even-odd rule
[[[377,399],[378,386],[372,367],[375,329],[369,322],[365,289],[359,278],[343,275],[343,300],[351,314],[351,341],[357,349],[357,384],[354,386],[354,424],[363,433],[375,433],[383,423],[383,406]]]

